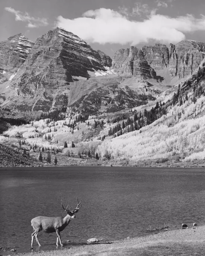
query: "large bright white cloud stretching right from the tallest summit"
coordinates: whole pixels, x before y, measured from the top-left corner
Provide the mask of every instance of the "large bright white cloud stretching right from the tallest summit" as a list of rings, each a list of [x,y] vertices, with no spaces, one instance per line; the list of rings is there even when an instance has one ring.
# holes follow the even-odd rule
[[[73,20],[59,16],[56,25],[78,35],[88,43],[118,43],[137,45],[155,40],[176,43],[185,34],[205,30],[205,16],[195,18],[191,14],[172,18],[152,13],[143,21],[129,20],[120,12],[100,8],[84,13]]]

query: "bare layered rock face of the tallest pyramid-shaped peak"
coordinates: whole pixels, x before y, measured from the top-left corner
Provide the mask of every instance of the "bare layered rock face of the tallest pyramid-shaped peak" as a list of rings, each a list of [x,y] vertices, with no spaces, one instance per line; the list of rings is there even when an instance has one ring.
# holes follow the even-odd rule
[[[70,82],[88,79],[95,70],[106,72],[102,62],[105,59],[87,43],[57,27],[36,40],[11,85],[18,95],[54,93]]]

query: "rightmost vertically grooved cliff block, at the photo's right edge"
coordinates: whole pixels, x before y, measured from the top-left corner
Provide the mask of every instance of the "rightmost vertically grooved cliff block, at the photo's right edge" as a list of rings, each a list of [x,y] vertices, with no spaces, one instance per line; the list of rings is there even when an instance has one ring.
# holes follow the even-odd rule
[[[184,40],[169,47],[169,75],[185,78],[192,75],[205,57],[205,43]]]

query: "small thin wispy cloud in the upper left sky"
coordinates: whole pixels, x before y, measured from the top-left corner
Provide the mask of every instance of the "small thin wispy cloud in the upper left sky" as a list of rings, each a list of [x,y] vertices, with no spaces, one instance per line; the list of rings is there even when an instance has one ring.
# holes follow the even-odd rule
[[[5,7],[5,10],[14,14],[16,21],[27,22],[26,26],[29,28],[47,26],[49,24],[47,18],[31,17],[27,12],[23,14],[23,12],[16,11],[14,8],[11,7]]]

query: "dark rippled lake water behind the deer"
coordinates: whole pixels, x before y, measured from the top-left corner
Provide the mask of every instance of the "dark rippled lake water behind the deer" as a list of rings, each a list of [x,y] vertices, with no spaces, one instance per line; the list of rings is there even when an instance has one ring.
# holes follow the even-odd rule
[[[0,168],[0,246],[29,251],[30,220],[65,216],[61,198],[64,206],[75,208],[77,196],[82,208],[61,232],[67,247],[93,237],[106,241],[138,236],[150,225],[164,227],[164,222],[172,227],[205,224],[204,169]],[[38,238],[40,250],[56,248],[55,233],[41,231]],[[33,245],[37,250],[35,239]]]

